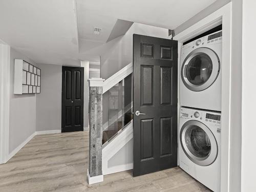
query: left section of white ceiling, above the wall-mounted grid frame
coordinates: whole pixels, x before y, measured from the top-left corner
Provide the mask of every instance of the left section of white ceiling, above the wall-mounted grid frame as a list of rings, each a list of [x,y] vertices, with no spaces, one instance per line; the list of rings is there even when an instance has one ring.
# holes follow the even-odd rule
[[[77,64],[74,1],[1,0],[0,39],[37,63]]]

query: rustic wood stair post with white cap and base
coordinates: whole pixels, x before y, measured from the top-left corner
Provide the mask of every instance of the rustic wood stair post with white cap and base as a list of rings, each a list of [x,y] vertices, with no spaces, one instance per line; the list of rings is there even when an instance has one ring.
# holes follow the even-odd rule
[[[102,84],[104,79],[89,79],[89,184],[103,181],[102,175]]]

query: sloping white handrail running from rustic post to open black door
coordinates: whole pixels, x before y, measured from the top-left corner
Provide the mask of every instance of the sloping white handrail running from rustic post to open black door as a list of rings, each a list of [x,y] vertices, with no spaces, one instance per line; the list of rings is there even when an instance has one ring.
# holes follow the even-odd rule
[[[110,78],[103,81],[103,93],[110,90],[112,87],[115,86],[118,82],[120,82],[122,79],[127,77],[133,73],[133,63],[129,63],[127,66],[116,72],[114,75],[112,75]]]

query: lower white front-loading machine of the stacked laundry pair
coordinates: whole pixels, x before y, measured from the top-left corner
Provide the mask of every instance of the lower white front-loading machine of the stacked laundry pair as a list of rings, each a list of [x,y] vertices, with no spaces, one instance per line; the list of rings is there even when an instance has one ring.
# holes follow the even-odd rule
[[[179,165],[209,189],[221,181],[221,113],[181,108]]]

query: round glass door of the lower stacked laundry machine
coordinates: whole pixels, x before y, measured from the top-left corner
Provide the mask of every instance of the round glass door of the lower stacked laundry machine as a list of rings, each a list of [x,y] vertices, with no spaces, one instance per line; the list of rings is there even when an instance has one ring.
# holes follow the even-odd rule
[[[214,134],[200,121],[189,120],[184,123],[180,142],[186,156],[198,165],[210,165],[217,158],[218,145]]]

